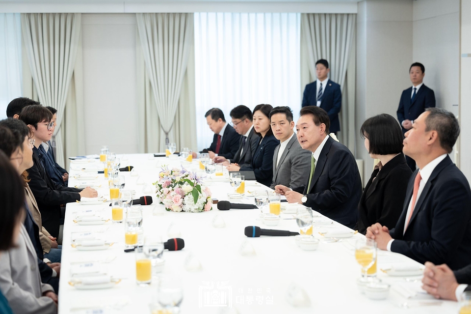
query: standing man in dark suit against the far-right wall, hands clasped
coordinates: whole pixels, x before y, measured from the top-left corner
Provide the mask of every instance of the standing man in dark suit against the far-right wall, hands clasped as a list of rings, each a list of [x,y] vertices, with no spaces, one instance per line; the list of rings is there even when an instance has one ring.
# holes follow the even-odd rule
[[[402,91],[399,108],[397,109],[397,119],[402,125],[402,133],[406,133],[412,128],[412,123],[425,111],[426,108],[435,107],[435,94],[432,89],[423,84],[425,67],[422,63],[416,62],[409,68],[412,87]],[[414,172],[416,162],[406,156],[407,165]]]

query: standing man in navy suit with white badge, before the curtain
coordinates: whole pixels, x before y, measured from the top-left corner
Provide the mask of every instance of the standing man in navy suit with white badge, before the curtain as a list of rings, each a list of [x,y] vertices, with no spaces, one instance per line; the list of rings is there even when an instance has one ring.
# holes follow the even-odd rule
[[[340,131],[339,112],[342,107],[342,92],[340,85],[327,78],[329,62],[320,59],[315,62],[317,80],[304,88],[303,107],[317,106],[324,109],[329,115],[330,132],[337,134]]]

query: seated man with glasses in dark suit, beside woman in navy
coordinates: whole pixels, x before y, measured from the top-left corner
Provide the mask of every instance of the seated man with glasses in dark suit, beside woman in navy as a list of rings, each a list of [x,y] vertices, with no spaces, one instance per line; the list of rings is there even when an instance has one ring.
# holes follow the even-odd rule
[[[226,159],[222,156],[214,158],[214,162],[223,163],[229,166],[231,163],[237,164],[240,168],[252,167],[252,153],[255,152],[260,142],[260,137],[254,134],[254,126],[252,123],[252,111],[244,105],[239,105],[231,110],[231,125],[234,130],[242,135],[239,142],[239,149],[233,159]]]

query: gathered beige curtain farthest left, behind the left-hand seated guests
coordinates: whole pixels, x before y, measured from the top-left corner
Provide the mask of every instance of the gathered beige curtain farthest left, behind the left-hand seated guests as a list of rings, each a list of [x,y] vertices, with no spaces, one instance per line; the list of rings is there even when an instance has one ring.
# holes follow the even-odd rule
[[[39,101],[57,109],[54,135],[60,165],[65,165],[63,121],[76,63],[80,23],[79,13],[21,14],[26,57]]]

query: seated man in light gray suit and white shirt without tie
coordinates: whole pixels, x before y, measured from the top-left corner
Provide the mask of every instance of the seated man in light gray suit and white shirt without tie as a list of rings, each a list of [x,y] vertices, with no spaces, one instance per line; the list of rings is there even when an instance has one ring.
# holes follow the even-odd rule
[[[299,145],[294,134],[293,114],[289,107],[275,107],[270,112],[271,129],[280,144],[273,154],[273,183],[302,193],[311,171],[311,153]]]

